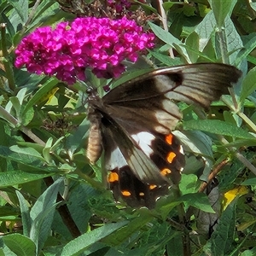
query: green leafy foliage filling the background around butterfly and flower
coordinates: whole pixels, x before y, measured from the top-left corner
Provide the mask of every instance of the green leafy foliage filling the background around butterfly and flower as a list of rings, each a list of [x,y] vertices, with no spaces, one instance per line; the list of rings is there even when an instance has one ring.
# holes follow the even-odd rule
[[[180,104],[175,135],[187,166],[179,188],[148,210],[115,203],[102,184],[101,160],[96,166],[86,160],[85,86],[14,67],[15,47],[28,33],[75,18],[60,9],[71,2],[83,1],[0,1],[0,256],[255,255],[256,3],[165,2],[161,21],[168,30],[160,20],[145,25],[158,43],[144,57],[157,67],[223,62],[243,73],[207,113]],[[153,3],[142,8],[151,18],[163,15]],[[151,68],[128,63],[111,86]],[[219,190],[211,196],[202,182],[210,173]],[[247,186],[247,195],[222,204],[222,195],[238,186]],[[198,218],[207,219],[207,232]]]

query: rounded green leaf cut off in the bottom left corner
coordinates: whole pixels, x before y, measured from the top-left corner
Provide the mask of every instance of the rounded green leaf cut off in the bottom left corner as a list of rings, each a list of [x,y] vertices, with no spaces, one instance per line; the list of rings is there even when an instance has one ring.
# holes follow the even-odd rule
[[[36,255],[35,244],[26,236],[10,234],[3,236],[3,241],[17,256]]]

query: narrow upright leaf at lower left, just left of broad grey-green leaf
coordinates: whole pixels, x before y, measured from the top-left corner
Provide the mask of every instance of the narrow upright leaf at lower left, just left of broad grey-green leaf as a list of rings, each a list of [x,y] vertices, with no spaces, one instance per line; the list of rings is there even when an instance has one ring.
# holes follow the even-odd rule
[[[20,212],[21,212],[21,219],[22,219],[22,225],[23,225],[23,235],[29,236],[30,230],[31,230],[31,218],[28,208],[28,202],[25,200],[24,196],[20,193],[20,191],[16,190],[16,195],[20,202]]]

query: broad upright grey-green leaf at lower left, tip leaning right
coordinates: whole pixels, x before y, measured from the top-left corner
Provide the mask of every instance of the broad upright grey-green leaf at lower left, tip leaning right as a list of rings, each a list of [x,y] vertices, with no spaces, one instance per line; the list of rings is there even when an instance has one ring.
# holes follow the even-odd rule
[[[56,198],[63,178],[59,178],[38,197],[33,205],[30,216],[32,226],[30,230],[30,238],[35,242],[37,253],[44,246],[44,242],[49,236],[50,227],[55,214]]]

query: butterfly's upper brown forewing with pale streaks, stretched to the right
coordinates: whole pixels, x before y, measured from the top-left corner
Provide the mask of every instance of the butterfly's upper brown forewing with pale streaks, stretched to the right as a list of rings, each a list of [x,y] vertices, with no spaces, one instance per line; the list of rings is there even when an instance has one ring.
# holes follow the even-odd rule
[[[170,100],[207,108],[240,75],[235,67],[224,64],[166,67],[119,85],[102,100],[121,125],[167,134],[182,118]]]

